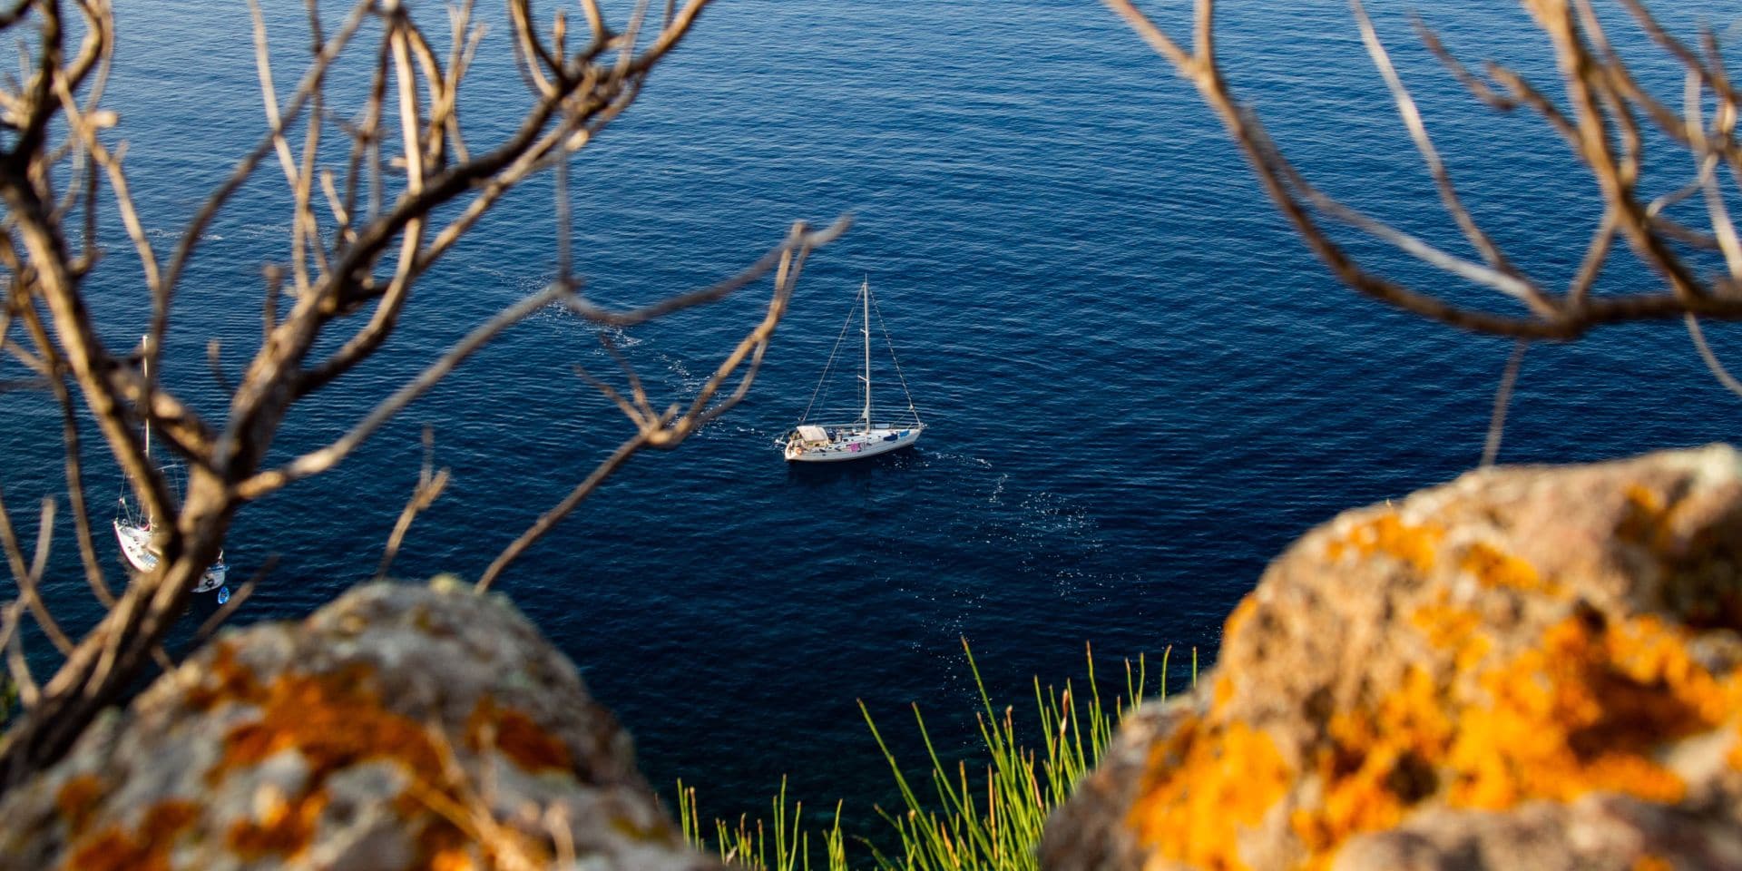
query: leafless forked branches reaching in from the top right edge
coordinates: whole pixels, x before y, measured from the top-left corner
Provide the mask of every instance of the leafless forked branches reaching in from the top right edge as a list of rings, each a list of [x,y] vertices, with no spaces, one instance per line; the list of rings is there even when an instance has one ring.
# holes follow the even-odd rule
[[[1641,167],[1644,165],[1646,141],[1639,131],[1636,110],[1648,113],[1655,113],[1657,110],[1650,96],[1643,94],[1643,91],[1637,89],[1637,84],[1632,82],[1625,66],[1613,57],[1613,52],[1606,52],[1606,42],[1603,42],[1599,28],[1594,28],[1594,38],[1597,40],[1596,52],[1592,51],[1592,45],[1583,40],[1578,23],[1578,14],[1583,14],[1583,7],[1578,14],[1575,14],[1573,3],[1566,2],[1535,3],[1529,7],[1536,24],[1552,42],[1564,77],[1568,101],[1573,106],[1571,113],[1561,111],[1542,94],[1542,91],[1524,82],[1517,73],[1500,64],[1488,66],[1489,77],[1512,92],[1510,101],[1531,106],[1554,124],[1557,132],[1561,132],[1563,138],[1566,138],[1573,146],[1577,157],[1589,167],[1590,176],[1601,192],[1606,213],[1604,225],[1597,228],[1590,246],[1585,249],[1585,261],[1573,277],[1568,294],[1557,296],[1540,291],[1540,282],[1524,275],[1507,275],[1505,268],[1481,267],[1437,251],[1420,239],[1413,239],[1390,225],[1367,218],[1336,202],[1334,199],[1326,197],[1306,183],[1300,171],[1294,169],[1294,165],[1270,139],[1270,134],[1265,131],[1258,115],[1233,96],[1226,78],[1216,66],[1214,33],[1207,24],[1212,21],[1212,0],[1197,0],[1192,52],[1181,49],[1181,45],[1155,26],[1148,16],[1139,12],[1131,0],[1104,2],[1118,16],[1125,17],[1132,30],[1144,42],[1148,42],[1157,54],[1172,64],[1174,71],[1197,87],[1198,96],[1209,105],[1211,110],[1214,110],[1228,134],[1246,153],[1272,202],[1294,225],[1294,230],[1319,256],[1319,260],[1331,268],[1336,279],[1364,296],[1453,327],[1514,338],[1571,340],[1603,324],[1681,317],[1690,312],[1700,317],[1742,317],[1742,293],[1728,293],[1728,287],[1732,286],[1742,287],[1742,280],[1732,279],[1723,287],[1726,293],[1712,293],[1712,287],[1702,282],[1702,279],[1690,270],[1683,256],[1672,247],[1672,242],[1676,240],[1685,240],[1695,246],[1723,247],[1723,239],[1718,235],[1707,239],[1695,233],[1658,214],[1662,207],[1653,211],[1646,204],[1639,202],[1636,185]],[[1428,49],[1441,56],[1441,59],[1453,70],[1455,75],[1460,77],[1460,80],[1465,80],[1465,85],[1470,87],[1477,98],[1489,103],[1502,103],[1502,108],[1510,105],[1491,94],[1484,84],[1470,77],[1469,71],[1444,51],[1444,45],[1439,44],[1432,31],[1427,31],[1425,26],[1420,30],[1423,30],[1423,40],[1428,42]],[[1371,37],[1371,26],[1367,26],[1366,31],[1366,37]],[[1376,47],[1376,38],[1367,38],[1367,42],[1369,47],[1374,47],[1371,54],[1383,73],[1390,64],[1385,59],[1383,51]],[[1709,51],[1707,54],[1716,57],[1714,51]],[[1698,61],[1695,59],[1690,66],[1698,66]],[[1709,68],[1711,63],[1705,66]],[[1707,70],[1707,75],[1719,73]],[[1408,98],[1408,92],[1402,91],[1401,82],[1394,77],[1388,77],[1388,85],[1394,89],[1394,98],[1397,98],[1401,111],[1406,115],[1408,122],[1413,115],[1413,101]],[[1732,103],[1721,101],[1721,106],[1730,105]],[[1420,143],[1425,139],[1425,127],[1420,124],[1409,125],[1415,131],[1413,136],[1418,139],[1418,148],[1421,148]],[[1728,127],[1725,127],[1725,131],[1728,131]],[[1730,145],[1733,143],[1730,132],[1725,132],[1723,136],[1723,141],[1726,143],[1721,150],[1725,160],[1732,162],[1733,169],[1742,169],[1742,155],[1739,155],[1742,150]],[[1432,164],[1432,146],[1428,145],[1421,150],[1428,155],[1428,162]],[[1742,179],[1742,172],[1735,174]],[[1442,199],[1446,199],[1446,176],[1437,174],[1437,179],[1442,183]],[[1449,207],[1455,214],[1462,211],[1462,206]],[[1493,312],[1486,305],[1470,308],[1453,305],[1432,293],[1387,280],[1366,268],[1350,251],[1331,239],[1326,226],[1320,225],[1322,218],[1350,223],[1362,232],[1409,253],[1411,256],[1432,263],[1439,270],[1500,289],[1509,296],[1524,301],[1529,308],[1529,317],[1514,317],[1510,314]],[[1728,223],[1728,216],[1725,216],[1723,221]],[[1482,246],[1482,237],[1474,233],[1467,235],[1472,235],[1472,244],[1479,249],[1489,247]],[[1596,277],[1608,258],[1615,237],[1625,239],[1634,253],[1662,275],[1667,293],[1641,291],[1601,296],[1592,293]],[[1739,247],[1742,247],[1742,242],[1739,242]],[[1489,247],[1489,253],[1496,254],[1498,249]],[[1500,263],[1500,260],[1495,258],[1495,263]]]

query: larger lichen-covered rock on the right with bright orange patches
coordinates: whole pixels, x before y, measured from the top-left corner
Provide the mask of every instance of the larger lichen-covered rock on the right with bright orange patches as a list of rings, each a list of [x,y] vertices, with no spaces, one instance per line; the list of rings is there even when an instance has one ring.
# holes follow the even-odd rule
[[[1742,868],[1742,455],[1472,472],[1296,542],[1047,829],[1077,869]]]

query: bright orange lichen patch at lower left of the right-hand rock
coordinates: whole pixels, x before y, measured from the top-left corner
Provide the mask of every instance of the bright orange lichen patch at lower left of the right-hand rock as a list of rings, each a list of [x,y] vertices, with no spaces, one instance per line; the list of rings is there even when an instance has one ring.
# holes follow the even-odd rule
[[[1143,796],[1125,822],[1167,859],[1212,871],[1244,869],[1240,829],[1256,826],[1291,780],[1265,732],[1190,719],[1151,753]]]

